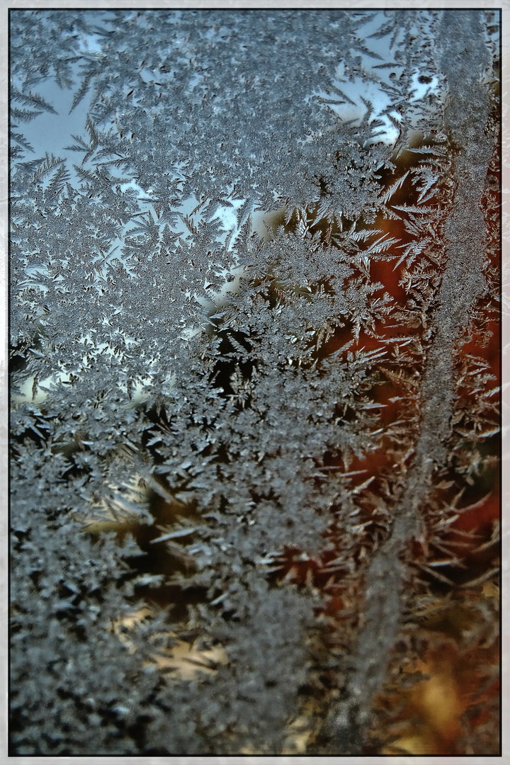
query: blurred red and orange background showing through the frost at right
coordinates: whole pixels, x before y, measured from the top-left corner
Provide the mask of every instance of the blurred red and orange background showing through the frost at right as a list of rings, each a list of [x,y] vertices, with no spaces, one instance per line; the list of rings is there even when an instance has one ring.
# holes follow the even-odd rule
[[[483,200],[489,262],[486,274],[489,282],[494,282],[497,278],[500,262],[500,174],[497,152],[496,147],[493,167],[489,174],[492,190]],[[418,160],[417,155],[404,152],[401,160],[396,163],[395,171],[385,171],[382,174],[382,184],[386,188],[391,187],[404,172],[412,171]],[[411,178],[412,172],[392,198],[392,204],[417,203],[417,192]],[[447,199],[449,193],[438,190],[426,204],[438,206]],[[413,236],[406,226],[404,213],[398,214],[401,215],[401,220],[390,220],[379,215],[373,226],[369,226],[374,229],[374,240],[386,234],[388,239],[395,237],[400,241],[388,248],[385,257],[373,258],[369,262],[369,275],[365,276],[372,282],[382,283],[382,288],[375,292],[375,297],[387,293],[393,298],[397,314],[401,311],[400,316],[397,320],[393,319],[391,314],[382,316],[371,327],[363,326],[362,321],[356,327],[355,321],[343,317],[343,327],[336,328],[323,349],[325,356],[343,349],[343,360],[349,359],[349,353],[355,354],[362,349],[385,350],[385,356],[374,362],[374,371],[378,370],[378,375],[374,378],[375,384],[371,389],[354,392],[360,402],[368,401],[381,405],[380,409],[373,410],[377,414],[377,418],[374,419],[375,428],[379,428],[380,431],[375,448],[367,450],[363,457],[352,454],[349,457],[325,455],[317,464],[317,470],[323,471],[325,480],[328,475],[339,477],[340,474],[354,474],[342,480],[343,485],[352,490],[354,502],[359,508],[359,520],[356,522],[365,523],[359,536],[360,549],[352,553],[353,566],[349,575],[349,567],[341,563],[345,564],[342,558],[345,554],[345,533],[333,522],[325,535],[329,549],[320,558],[310,558],[300,549],[286,548],[278,558],[272,575],[274,581],[286,580],[300,586],[313,586],[327,594],[329,597],[326,598],[326,605],[317,608],[317,614],[330,618],[330,633],[336,634],[345,632],[346,628],[343,625],[346,620],[352,618],[353,614],[356,616],[356,610],[359,610],[362,604],[362,576],[357,576],[356,570],[359,568],[362,571],[365,558],[369,558],[371,550],[375,549],[378,543],[377,535],[381,533],[377,516],[378,500],[382,500],[391,511],[391,493],[388,493],[388,487],[391,489],[392,484],[395,486],[401,481],[405,470],[412,464],[412,448],[405,451],[407,447],[395,442],[394,436],[391,435],[391,425],[399,419],[407,422],[408,443],[411,444],[419,427],[419,387],[427,343],[430,340],[426,321],[416,321],[414,315],[409,326],[405,327],[401,319],[408,308],[410,294],[404,286],[406,264],[396,264],[403,252],[402,246],[410,245]],[[378,229],[378,233],[375,233],[375,229]],[[440,232],[437,232],[437,236],[440,236]],[[437,239],[432,245],[433,250],[435,246]],[[437,252],[431,251],[430,255],[432,262],[437,263]],[[424,256],[420,257],[423,259]],[[409,268],[412,269],[412,266]],[[437,265],[434,268],[437,269]],[[420,273],[420,278],[422,277],[426,282],[426,269],[423,274]],[[499,392],[491,390],[500,384],[501,342],[495,299],[497,288],[494,284],[489,284],[489,287],[492,288],[492,297],[488,292],[486,298],[483,298],[485,303],[481,301],[476,306],[473,326],[469,330],[469,341],[463,344],[461,341],[456,349],[456,373],[458,379],[463,377],[463,382],[458,386],[456,401],[456,411],[460,412],[460,417],[453,425],[451,439],[453,461],[440,471],[440,475],[434,477],[437,488],[432,489],[430,507],[423,508],[424,518],[432,519],[431,524],[434,528],[429,529],[430,539],[415,542],[412,551],[417,562],[426,564],[428,561],[436,564],[437,561],[432,558],[445,557],[445,553],[438,552],[437,547],[434,548],[434,539],[439,538],[444,545],[451,545],[453,558],[463,559],[464,568],[461,566],[456,569],[457,574],[453,568],[436,569],[444,571],[448,577],[450,571],[453,572],[451,587],[448,584],[438,586],[437,581],[434,578],[427,579],[427,575],[422,578],[422,586],[429,588],[427,597],[436,598],[431,610],[436,609],[442,616],[437,617],[435,621],[435,617],[417,621],[415,627],[421,630],[420,634],[424,636],[424,649],[419,659],[415,659],[402,670],[402,679],[405,679],[408,672],[423,672],[427,677],[410,687],[397,684],[396,692],[395,688],[393,689],[395,708],[391,715],[397,724],[395,731],[399,732],[393,737],[390,735],[385,749],[369,754],[476,754],[478,744],[473,748],[473,744],[466,744],[466,741],[471,734],[471,740],[474,741],[476,731],[482,731],[484,724],[489,724],[495,715],[494,702],[499,695],[498,640],[486,639],[485,643],[483,640],[474,641],[470,646],[468,641],[466,647],[463,637],[466,630],[469,632],[483,629],[480,614],[484,608],[480,604],[483,604],[486,598],[492,598],[490,602],[496,604],[497,610],[499,598],[493,572],[499,552],[496,527],[500,517],[497,467],[500,441],[499,436],[491,435],[490,428],[491,418],[495,427],[499,416],[492,406],[499,402]],[[416,295],[419,301],[419,291],[414,293],[415,298]],[[404,332],[406,340],[402,340]],[[394,348],[400,345],[403,349],[402,355],[399,355],[399,350],[393,352]],[[352,356],[350,358],[352,360]],[[479,389],[473,391],[476,387],[472,382],[473,374],[477,373],[482,382]],[[492,379],[489,376],[492,376]],[[490,396],[487,395],[489,392]],[[476,416],[486,418],[486,432],[476,430],[476,418],[473,419],[475,409]],[[347,408],[346,412],[340,412],[340,416],[344,416],[346,422],[350,422],[356,418],[356,412]],[[466,431],[464,435],[461,426]],[[399,453],[400,462],[395,462],[395,454]],[[471,469],[469,461],[478,461],[479,467]],[[331,471],[328,472],[328,469]],[[356,491],[356,487],[369,479],[372,480],[365,488]],[[398,490],[395,496],[398,496]],[[445,520],[451,519],[454,513],[457,517],[453,522],[445,524],[442,531],[437,532],[435,524],[442,508]],[[384,531],[382,533],[384,535]],[[352,574],[352,571],[355,573]],[[422,571],[420,575],[421,573]],[[467,605],[460,596],[456,600],[457,593],[466,596]],[[492,680],[491,672],[494,675]],[[468,711],[469,715],[466,716]],[[388,722],[388,725],[388,731],[393,730],[392,723]],[[385,731],[381,732],[384,739]],[[486,751],[492,752],[497,744],[495,741],[483,740],[484,735],[486,734],[479,734],[479,747],[482,751],[483,747],[486,747]],[[386,740],[388,741],[388,737]]]

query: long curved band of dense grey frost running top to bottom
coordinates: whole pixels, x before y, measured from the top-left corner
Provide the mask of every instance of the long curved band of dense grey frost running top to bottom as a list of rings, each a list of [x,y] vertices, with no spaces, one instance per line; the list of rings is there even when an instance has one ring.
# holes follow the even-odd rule
[[[447,460],[455,379],[453,353],[460,331],[469,322],[473,302],[484,288],[485,225],[480,209],[492,141],[486,134],[489,98],[481,80],[489,56],[480,11],[444,11],[437,44],[440,67],[447,77],[449,98],[444,129],[459,148],[453,161],[456,194],[444,229],[447,266],[437,293],[421,385],[421,434],[407,486],[395,510],[385,543],[366,570],[362,630],[344,698],[330,713],[323,730],[328,751],[361,754],[371,721],[372,700],[385,682],[387,662],[395,646],[403,605],[411,540],[421,532],[421,507],[436,467]]]

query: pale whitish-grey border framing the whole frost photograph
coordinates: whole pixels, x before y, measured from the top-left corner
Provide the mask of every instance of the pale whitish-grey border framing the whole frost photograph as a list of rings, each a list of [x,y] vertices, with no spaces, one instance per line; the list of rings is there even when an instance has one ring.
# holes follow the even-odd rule
[[[503,269],[508,268],[508,282],[503,272],[502,285],[502,758],[499,757],[9,757],[7,755],[7,706],[8,706],[8,10],[9,8],[496,8],[502,9],[502,258]],[[505,151],[510,131],[510,0],[492,2],[384,2],[384,0],[350,0],[350,2],[306,2],[306,0],[273,0],[273,2],[242,2],[242,0],[110,0],[110,2],[79,2],[79,0],[0,0],[0,762],[7,759],[21,765],[39,763],[132,763],[132,765],[263,765],[263,763],[335,763],[337,760],[352,762],[395,763],[395,765],[425,765],[446,760],[451,763],[486,763],[487,760],[507,760],[510,757],[510,688],[509,653],[510,630],[505,614],[510,607],[508,594],[508,571],[510,563],[510,213],[506,211],[510,200],[510,151]],[[505,309],[505,306],[507,308]],[[505,312],[506,311],[506,312]]]

